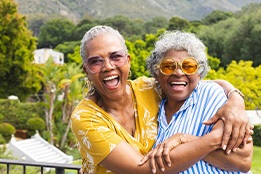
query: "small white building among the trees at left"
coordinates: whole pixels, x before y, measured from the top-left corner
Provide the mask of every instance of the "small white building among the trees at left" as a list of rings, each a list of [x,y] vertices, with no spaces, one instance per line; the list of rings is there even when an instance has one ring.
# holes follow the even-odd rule
[[[49,48],[35,50],[33,63],[44,64],[50,57],[53,58],[55,63],[60,65],[64,64],[64,54]]]

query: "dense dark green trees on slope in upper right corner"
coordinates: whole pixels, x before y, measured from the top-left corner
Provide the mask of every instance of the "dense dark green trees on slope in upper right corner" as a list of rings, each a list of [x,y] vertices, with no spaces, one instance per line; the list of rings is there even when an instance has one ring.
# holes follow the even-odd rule
[[[198,34],[224,68],[232,60],[261,64],[261,4],[248,5],[226,20],[202,27]]]

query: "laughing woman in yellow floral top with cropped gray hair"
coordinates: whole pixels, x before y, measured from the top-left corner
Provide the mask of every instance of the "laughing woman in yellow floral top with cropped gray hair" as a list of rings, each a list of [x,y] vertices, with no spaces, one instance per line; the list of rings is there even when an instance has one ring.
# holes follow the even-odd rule
[[[87,97],[75,108],[71,121],[83,160],[83,172],[151,173],[148,163],[143,166],[138,163],[151,150],[157,134],[156,115],[160,97],[154,79],[140,77],[127,80],[130,56],[123,37],[111,27],[96,26],[90,29],[83,37],[81,56],[83,69],[92,85],[89,86]],[[227,90],[232,88],[230,84],[224,85]],[[234,110],[234,114],[238,115],[239,110],[244,109],[242,99],[236,94],[232,94],[230,100],[232,98],[233,102],[241,102]],[[228,131],[233,130],[233,135],[236,135],[228,144],[232,149],[242,142],[241,137],[244,137],[248,126],[245,115],[240,120],[231,118],[231,114],[223,114],[230,113],[230,103],[216,117],[234,119],[237,124],[233,129],[232,124],[228,124]],[[192,148],[189,143],[179,145],[184,147],[181,154],[173,149],[170,155],[180,155],[184,160],[175,162],[168,170],[175,171],[181,164],[181,168],[186,169],[192,161],[211,155],[217,144],[221,146],[222,133],[223,127],[218,127],[198,142],[194,141]],[[193,148],[202,150],[193,153]],[[161,173],[160,170],[157,172]]]

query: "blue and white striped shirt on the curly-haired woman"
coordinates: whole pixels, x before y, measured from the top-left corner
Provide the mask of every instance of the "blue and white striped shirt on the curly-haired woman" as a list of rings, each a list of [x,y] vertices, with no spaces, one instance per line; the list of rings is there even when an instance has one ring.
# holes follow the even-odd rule
[[[164,98],[160,105],[158,136],[154,147],[175,133],[186,133],[195,136],[203,136],[209,133],[212,126],[205,125],[202,122],[214,116],[218,109],[225,104],[227,98],[219,85],[213,82],[200,81],[189,98],[172,116],[169,124],[167,123],[164,109],[166,101],[167,98]],[[200,160],[181,173],[234,174],[240,172],[225,171]],[[250,174],[251,172],[249,171],[248,173]]]

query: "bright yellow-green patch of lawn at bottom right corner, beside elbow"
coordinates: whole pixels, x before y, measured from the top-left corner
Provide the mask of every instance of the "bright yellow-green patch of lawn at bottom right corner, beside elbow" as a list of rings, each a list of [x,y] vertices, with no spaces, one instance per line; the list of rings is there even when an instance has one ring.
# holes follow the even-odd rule
[[[261,147],[254,146],[251,171],[253,174],[261,173]]]

